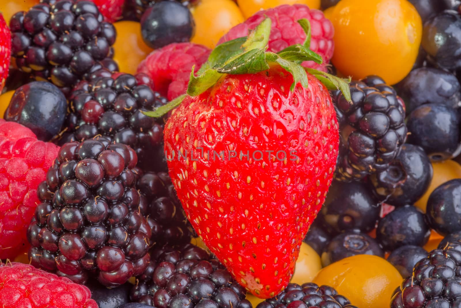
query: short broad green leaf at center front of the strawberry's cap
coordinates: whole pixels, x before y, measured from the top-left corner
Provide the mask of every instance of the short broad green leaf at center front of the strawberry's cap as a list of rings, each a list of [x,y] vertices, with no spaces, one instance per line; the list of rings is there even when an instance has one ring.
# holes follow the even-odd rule
[[[225,74],[254,74],[260,71],[267,71],[269,65],[266,62],[264,49],[253,49],[243,53],[237,59],[227,65],[218,68],[217,71]]]

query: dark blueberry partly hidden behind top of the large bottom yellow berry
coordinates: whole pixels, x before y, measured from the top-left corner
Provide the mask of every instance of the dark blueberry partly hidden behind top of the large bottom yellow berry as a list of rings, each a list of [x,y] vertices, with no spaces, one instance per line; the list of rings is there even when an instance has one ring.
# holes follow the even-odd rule
[[[384,251],[378,242],[357,231],[347,231],[333,237],[322,253],[322,265],[331,263],[353,255],[377,255],[384,258]]]

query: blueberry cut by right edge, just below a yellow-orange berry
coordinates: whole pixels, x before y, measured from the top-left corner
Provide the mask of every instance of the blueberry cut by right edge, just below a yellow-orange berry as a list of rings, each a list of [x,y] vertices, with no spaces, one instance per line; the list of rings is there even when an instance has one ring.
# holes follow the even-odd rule
[[[437,233],[448,235],[461,231],[460,194],[461,179],[457,178],[440,185],[429,196],[426,215],[429,225]]]

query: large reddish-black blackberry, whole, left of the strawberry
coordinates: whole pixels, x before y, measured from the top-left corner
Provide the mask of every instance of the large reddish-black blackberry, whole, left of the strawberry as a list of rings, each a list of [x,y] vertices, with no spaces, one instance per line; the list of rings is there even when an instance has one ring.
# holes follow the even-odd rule
[[[151,229],[139,210],[136,161],[133,149],[101,137],[61,147],[27,231],[34,266],[109,287],[146,269]]]

